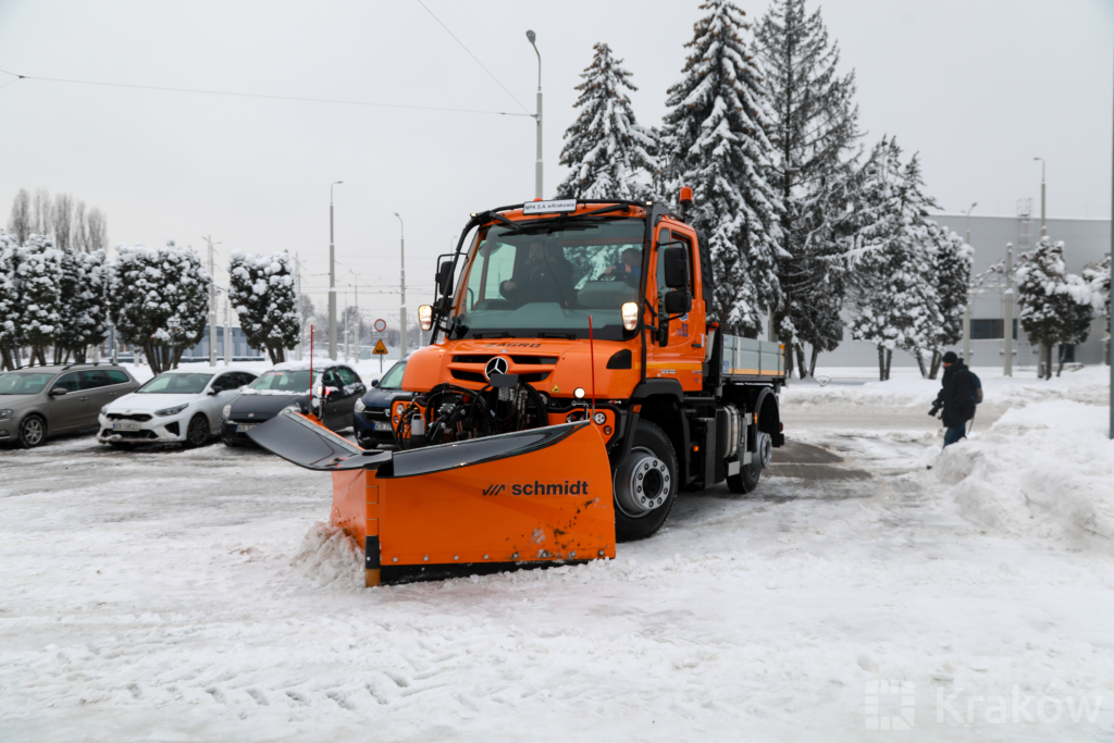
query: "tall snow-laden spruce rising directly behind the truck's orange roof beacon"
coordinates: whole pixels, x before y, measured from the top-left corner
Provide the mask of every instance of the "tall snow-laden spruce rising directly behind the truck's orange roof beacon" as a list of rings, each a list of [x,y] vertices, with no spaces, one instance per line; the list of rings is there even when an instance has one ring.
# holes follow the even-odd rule
[[[760,313],[782,303],[776,261],[781,198],[769,182],[772,145],[762,81],[743,40],[743,11],[706,0],[682,79],[668,90],[665,138],[672,189],[690,186],[688,222],[707,238],[715,267],[711,315],[724,330],[755,338]]]

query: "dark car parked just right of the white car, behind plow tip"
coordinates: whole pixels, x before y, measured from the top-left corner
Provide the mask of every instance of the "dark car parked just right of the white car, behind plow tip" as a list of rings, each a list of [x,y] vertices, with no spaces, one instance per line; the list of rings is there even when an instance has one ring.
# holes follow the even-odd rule
[[[334,431],[352,428],[355,401],[368,391],[360,375],[338,363],[314,364],[313,413]],[[310,412],[310,364],[278,364],[260,374],[238,398],[224,407],[221,438],[229,447],[250,443],[247,431],[291,408]]]

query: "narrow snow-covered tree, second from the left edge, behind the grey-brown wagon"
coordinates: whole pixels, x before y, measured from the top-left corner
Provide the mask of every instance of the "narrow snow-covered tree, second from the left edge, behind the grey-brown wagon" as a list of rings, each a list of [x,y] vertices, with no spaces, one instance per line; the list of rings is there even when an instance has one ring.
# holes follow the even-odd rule
[[[47,348],[56,343],[62,322],[63,254],[50,237],[32,234],[19,250],[20,333],[31,346],[31,364],[47,363]]]

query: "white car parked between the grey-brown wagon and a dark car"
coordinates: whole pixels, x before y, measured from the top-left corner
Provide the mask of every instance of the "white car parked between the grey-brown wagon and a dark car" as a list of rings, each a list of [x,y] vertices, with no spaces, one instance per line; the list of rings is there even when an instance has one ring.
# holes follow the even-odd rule
[[[255,381],[243,369],[174,369],[100,409],[97,440],[114,447],[179,442],[199,447],[221,432],[221,411]]]

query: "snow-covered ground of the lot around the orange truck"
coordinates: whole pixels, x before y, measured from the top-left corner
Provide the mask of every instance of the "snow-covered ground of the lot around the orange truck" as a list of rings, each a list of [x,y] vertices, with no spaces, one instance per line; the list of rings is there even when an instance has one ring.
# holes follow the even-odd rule
[[[0,450],[0,741],[1112,740],[1107,372],[977,371],[944,454],[938,383],[797,383],[812,447],[753,497],[683,496],[606,564],[373,590],[326,476]]]

